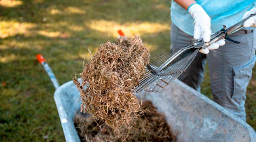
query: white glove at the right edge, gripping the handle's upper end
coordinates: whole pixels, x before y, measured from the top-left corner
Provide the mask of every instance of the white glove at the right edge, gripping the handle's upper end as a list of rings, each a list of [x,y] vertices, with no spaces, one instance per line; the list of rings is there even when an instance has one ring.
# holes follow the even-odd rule
[[[243,19],[251,16],[251,14],[256,14],[256,7],[252,8],[251,10],[249,11],[246,11],[244,14],[243,14]],[[256,16],[252,16],[251,18],[247,19],[244,23],[243,23],[243,26],[245,28],[248,28],[248,27],[254,27],[256,28]]]

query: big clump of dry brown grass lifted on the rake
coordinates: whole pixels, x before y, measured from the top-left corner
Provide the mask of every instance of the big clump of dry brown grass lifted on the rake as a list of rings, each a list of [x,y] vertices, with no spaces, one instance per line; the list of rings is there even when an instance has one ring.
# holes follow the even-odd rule
[[[101,118],[115,132],[130,126],[131,118],[142,112],[131,90],[144,75],[149,56],[139,36],[119,37],[115,43],[101,44],[84,66],[82,82],[74,79],[82,100],[81,112]]]

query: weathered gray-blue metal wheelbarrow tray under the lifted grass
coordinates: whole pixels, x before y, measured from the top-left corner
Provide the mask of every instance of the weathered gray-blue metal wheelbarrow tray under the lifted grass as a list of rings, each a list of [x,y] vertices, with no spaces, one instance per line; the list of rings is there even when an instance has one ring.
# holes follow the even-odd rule
[[[249,124],[179,80],[162,93],[142,98],[152,101],[164,114],[178,141],[256,141],[255,130]],[[77,87],[72,81],[61,85],[54,100],[66,141],[80,141],[73,124],[81,104]]]

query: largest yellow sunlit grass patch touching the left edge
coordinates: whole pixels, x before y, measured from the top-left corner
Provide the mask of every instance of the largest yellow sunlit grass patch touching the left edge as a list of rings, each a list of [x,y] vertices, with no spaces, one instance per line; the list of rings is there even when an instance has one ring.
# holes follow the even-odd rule
[[[28,22],[1,21],[0,38],[15,36],[17,34],[30,35],[30,29],[36,27],[36,24]]]

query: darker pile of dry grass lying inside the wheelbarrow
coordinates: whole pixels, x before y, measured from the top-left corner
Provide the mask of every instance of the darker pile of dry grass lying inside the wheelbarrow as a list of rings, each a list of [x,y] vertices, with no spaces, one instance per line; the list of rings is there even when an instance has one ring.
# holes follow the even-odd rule
[[[75,115],[74,124],[81,141],[175,141],[164,116],[150,101],[143,102],[144,115],[133,118],[131,127],[123,127],[119,134],[101,119],[96,122],[89,116]],[[100,127],[99,127],[100,126]]]

